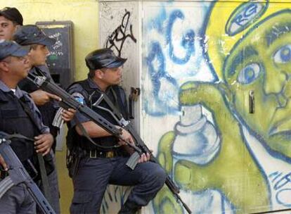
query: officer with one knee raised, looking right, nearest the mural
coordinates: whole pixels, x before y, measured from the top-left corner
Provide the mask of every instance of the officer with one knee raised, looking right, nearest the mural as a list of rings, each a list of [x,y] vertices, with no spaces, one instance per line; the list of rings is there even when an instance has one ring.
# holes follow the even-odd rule
[[[118,86],[121,81],[120,66],[126,59],[115,56],[110,49],[98,49],[86,56],[89,75],[86,80],[76,82],[68,89],[81,103],[89,106],[105,119],[117,125],[108,111],[96,108],[93,104],[105,92],[113,105],[127,118],[127,103],[124,90]],[[105,100],[100,106],[111,110]],[[132,151],[112,134],[103,130],[88,118],[76,113],[67,135],[67,144],[79,147],[82,158],[77,172],[72,175],[74,196],[70,206],[71,213],[99,213],[103,194],[108,184],[134,186],[126,203],[119,213],[136,213],[155,197],[162,188],[166,174],[156,163],[149,162],[150,155],[143,153],[134,170],[126,166],[129,156],[124,151]],[[94,144],[87,137],[92,138]],[[122,137],[134,144],[134,139],[126,130]]]

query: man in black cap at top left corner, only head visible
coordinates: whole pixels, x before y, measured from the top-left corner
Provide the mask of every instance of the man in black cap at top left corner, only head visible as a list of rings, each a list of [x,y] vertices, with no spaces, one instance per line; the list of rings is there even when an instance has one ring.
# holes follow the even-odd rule
[[[0,10],[0,39],[11,40],[13,33],[23,23],[17,8],[5,7]]]

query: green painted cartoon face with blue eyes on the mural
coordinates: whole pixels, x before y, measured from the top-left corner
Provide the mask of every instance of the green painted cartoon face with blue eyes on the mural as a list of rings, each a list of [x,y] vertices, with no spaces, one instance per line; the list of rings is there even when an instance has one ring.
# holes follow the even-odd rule
[[[238,116],[274,151],[291,157],[291,11],[273,13],[233,46],[224,80]],[[254,91],[255,113],[249,113]]]

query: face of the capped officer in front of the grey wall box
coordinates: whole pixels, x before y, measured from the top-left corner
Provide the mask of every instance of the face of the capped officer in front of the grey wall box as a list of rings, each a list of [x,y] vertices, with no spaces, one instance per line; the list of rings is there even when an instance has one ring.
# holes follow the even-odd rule
[[[46,56],[48,56],[48,49],[43,44],[34,44],[28,56],[30,58],[30,63],[32,66],[45,65]]]

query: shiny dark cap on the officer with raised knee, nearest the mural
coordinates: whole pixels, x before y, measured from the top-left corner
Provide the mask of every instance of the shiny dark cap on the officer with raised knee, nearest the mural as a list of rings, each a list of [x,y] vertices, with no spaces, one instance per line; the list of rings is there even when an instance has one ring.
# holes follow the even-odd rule
[[[101,68],[118,68],[127,61],[127,58],[116,56],[111,49],[98,49],[89,53],[85,61],[89,69],[96,70]]]

